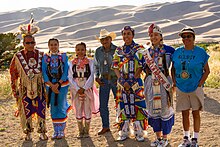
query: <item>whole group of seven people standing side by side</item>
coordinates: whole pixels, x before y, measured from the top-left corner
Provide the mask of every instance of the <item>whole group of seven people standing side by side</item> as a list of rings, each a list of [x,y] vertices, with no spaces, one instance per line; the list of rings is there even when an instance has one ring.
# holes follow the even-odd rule
[[[30,24],[29,24],[30,25]],[[11,86],[16,98],[25,139],[31,140],[32,115],[37,114],[40,139],[48,139],[45,109],[50,107],[54,133],[52,139],[65,137],[67,114],[73,107],[77,119],[78,137],[89,137],[92,114],[100,112],[102,129],[110,131],[108,101],[110,91],[115,100],[117,140],[126,140],[133,132],[137,141],[144,141],[144,130],[150,125],[156,135],[151,146],[168,145],[168,135],[174,125],[173,89],[176,88],[176,111],[182,112],[184,129],[180,147],[197,147],[200,131],[200,111],[204,107],[203,84],[209,75],[209,55],[195,45],[195,32],[184,28],[179,36],[183,46],[176,50],[163,43],[161,28],[148,28],[151,45],[146,48],[134,41],[135,30],[121,30],[124,41],[115,46],[114,32],[106,29],[96,37],[102,44],[94,60],[86,56],[86,44],[75,46],[76,57],[68,61],[59,51],[59,41],[48,41],[49,52],[35,49],[34,28],[27,26],[24,49],[11,61]],[[28,30],[29,29],[29,30]],[[24,29],[23,29],[24,30]],[[172,68],[171,68],[172,66]],[[94,81],[99,85],[97,92]],[[70,88],[72,107],[67,102]],[[193,115],[193,137],[190,139],[190,110]]]

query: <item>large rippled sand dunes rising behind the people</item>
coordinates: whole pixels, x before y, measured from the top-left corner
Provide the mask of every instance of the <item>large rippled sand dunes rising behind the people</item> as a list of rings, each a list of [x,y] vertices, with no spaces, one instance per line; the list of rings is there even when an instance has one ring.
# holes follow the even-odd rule
[[[117,34],[116,45],[121,45],[120,30],[125,25],[135,29],[135,41],[145,43],[147,28],[157,23],[163,30],[165,42],[173,44],[180,41],[178,32],[186,26],[195,28],[197,41],[220,40],[220,1],[204,0],[200,2],[154,3],[142,6],[120,5],[114,7],[92,7],[84,10],[58,11],[53,8],[39,7],[0,13],[0,32],[16,32],[18,25],[27,23],[30,14],[41,31],[36,34],[39,48],[47,48],[47,41],[56,37],[62,47],[68,47],[80,41],[89,48],[99,46],[95,35],[102,28]]]

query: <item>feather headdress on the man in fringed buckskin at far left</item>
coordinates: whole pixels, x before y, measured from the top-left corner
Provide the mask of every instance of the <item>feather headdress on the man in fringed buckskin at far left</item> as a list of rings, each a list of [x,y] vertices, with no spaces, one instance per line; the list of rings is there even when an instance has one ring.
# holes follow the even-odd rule
[[[30,22],[28,24],[20,25],[19,30],[22,35],[22,38],[24,38],[27,35],[33,35],[40,30],[40,28],[36,26],[36,23],[34,23],[33,13],[31,13]]]

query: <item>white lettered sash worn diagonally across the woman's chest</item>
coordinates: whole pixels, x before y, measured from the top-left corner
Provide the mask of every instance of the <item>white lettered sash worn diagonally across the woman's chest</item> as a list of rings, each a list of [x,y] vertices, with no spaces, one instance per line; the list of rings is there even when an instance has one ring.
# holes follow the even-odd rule
[[[171,89],[171,83],[168,81],[166,76],[160,71],[159,67],[156,65],[154,60],[151,58],[148,49],[140,51],[143,54],[143,57],[148,65],[149,69],[151,70],[152,74],[155,78],[163,85],[163,87],[169,91]]]

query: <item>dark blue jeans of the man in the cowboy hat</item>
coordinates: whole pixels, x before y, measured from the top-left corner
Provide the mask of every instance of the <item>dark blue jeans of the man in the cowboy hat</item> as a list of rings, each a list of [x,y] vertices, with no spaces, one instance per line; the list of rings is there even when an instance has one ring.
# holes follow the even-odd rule
[[[113,83],[113,81],[108,81],[107,79],[104,78],[102,78],[101,81],[104,82],[105,85],[100,86],[99,89],[99,101],[100,101],[99,111],[102,118],[102,127],[109,128],[109,110],[108,110],[109,95],[110,95],[110,90],[112,90],[114,98],[116,97],[117,85],[116,83]]]

